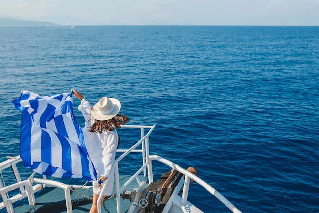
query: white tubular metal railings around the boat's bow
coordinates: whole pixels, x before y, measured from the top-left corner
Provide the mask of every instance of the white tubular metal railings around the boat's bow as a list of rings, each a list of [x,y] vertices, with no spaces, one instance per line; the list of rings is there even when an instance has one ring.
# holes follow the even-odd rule
[[[161,162],[165,165],[168,165],[171,168],[174,168],[175,170],[182,173],[185,178],[184,181],[180,182],[183,187],[183,194],[181,197],[181,208],[187,209],[187,206],[190,204],[187,201],[188,197],[188,189],[190,184],[190,179],[197,182],[199,185],[204,187],[210,194],[214,195],[217,199],[219,199],[225,206],[227,206],[232,212],[234,213],[241,213],[240,210],[238,210],[232,203],[230,203],[223,195],[221,195],[219,192],[215,190],[215,188],[208,185],[206,182],[204,182],[202,179],[197,177],[196,175],[190,173],[189,171],[179,167],[179,165],[164,159],[162,157],[159,157],[157,155],[150,155],[149,154],[149,135],[154,130],[155,125],[153,126],[142,126],[142,125],[123,125],[123,128],[139,128],[141,131],[141,139],[137,141],[133,146],[131,146],[129,149],[118,149],[117,152],[124,152],[120,157],[118,157],[114,164],[113,169],[115,170],[115,188],[116,188],[116,201],[117,201],[117,212],[121,212],[121,193],[123,193],[124,189],[128,186],[129,183],[131,183],[133,180],[137,180],[140,184],[141,181],[139,180],[139,175],[143,172],[144,176],[148,176],[148,183],[153,182],[153,168],[152,168],[152,161],[156,160],[158,162]],[[149,129],[146,135],[144,135],[144,129]],[[137,149],[138,146],[141,145],[141,149]],[[127,180],[122,186],[120,186],[119,183],[119,162],[125,158],[129,153],[132,152],[138,152],[142,155],[142,166],[136,171],[134,175],[132,175],[129,180]],[[15,177],[17,179],[17,183],[11,184],[10,186],[3,187],[0,182],[0,195],[2,196],[3,202],[0,203],[0,209],[6,207],[7,212],[13,213],[13,207],[12,203],[23,199],[25,197],[28,198],[29,205],[35,204],[35,198],[34,198],[34,192],[39,191],[41,189],[41,185],[37,184],[33,186],[33,183],[40,183],[40,184],[48,184],[50,186],[55,186],[62,188],[65,191],[65,201],[66,201],[66,208],[67,212],[72,212],[72,205],[71,205],[71,197],[70,197],[70,186],[66,185],[64,183],[60,183],[58,181],[53,180],[46,180],[40,179],[40,178],[34,178],[33,175],[31,175],[27,180],[21,181],[21,178],[19,176],[19,173],[16,169],[16,163],[22,161],[20,156],[17,156],[15,158],[12,158],[10,160],[7,160],[3,163],[0,163],[0,171],[12,167]],[[109,179],[107,179],[108,181]],[[107,182],[105,182],[104,186],[107,185]],[[40,186],[40,187],[39,187]],[[13,198],[8,197],[8,192],[20,188],[21,193],[15,195]],[[103,194],[105,190],[105,187],[103,187],[101,194]],[[100,203],[102,199],[102,196],[98,198],[97,203]],[[98,212],[101,212],[101,206],[97,205]],[[185,212],[185,211],[184,211]]]

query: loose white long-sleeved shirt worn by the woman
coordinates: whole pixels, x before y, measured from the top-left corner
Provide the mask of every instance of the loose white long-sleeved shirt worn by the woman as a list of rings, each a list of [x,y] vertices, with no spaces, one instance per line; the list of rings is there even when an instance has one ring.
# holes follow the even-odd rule
[[[103,131],[101,134],[89,132],[88,130],[95,122],[91,116],[91,108],[90,103],[85,98],[78,106],[78,110],[82,112],[85,119],[85,127],[82,129],[84,143],[98,178],[101,176],[109,177],[119,140],[118,134],[116,129]]]

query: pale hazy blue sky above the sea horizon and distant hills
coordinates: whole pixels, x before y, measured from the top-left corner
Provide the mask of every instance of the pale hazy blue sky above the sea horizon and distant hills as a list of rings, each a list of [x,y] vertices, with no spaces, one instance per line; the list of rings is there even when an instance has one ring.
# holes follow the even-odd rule
[[[319,0],[0,0],[0,17],[61,25],[319,25]]]

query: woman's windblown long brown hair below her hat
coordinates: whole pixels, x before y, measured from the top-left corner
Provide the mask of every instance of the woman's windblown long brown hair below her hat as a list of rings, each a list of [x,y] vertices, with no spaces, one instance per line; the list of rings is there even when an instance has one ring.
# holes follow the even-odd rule
[[[117,114],[115,117],[105,121],[95,120],[94,124],[90,127],[89,132],[102,133],[103,131],[112,131],[114,127],[117,129],[121,128],[121,125],[124,125],[125,122],[128,122],[129,119],[126,115]]]

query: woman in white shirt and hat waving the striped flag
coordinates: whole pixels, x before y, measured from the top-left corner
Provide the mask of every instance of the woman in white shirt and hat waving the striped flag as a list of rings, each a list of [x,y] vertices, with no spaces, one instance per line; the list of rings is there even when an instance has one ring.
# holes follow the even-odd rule
[[[81,103],[78,110],[82,112],[85,119],[83,128],[84,143],[89,157],[96,169],[98,181],[93,182],[93,204],[90,213],[97,212],[97,199],[100,195],[104,182],[109,179],[101,206],[105,196],[111,195],[114,182],[114,170],[111,170],[115,159],[119,135],[116,128],[129,121],[125,115],[118,115],[121,103],[114,98],[103,97],[93,107],[85,100],[81,92],[72,89],[75,98]]]

